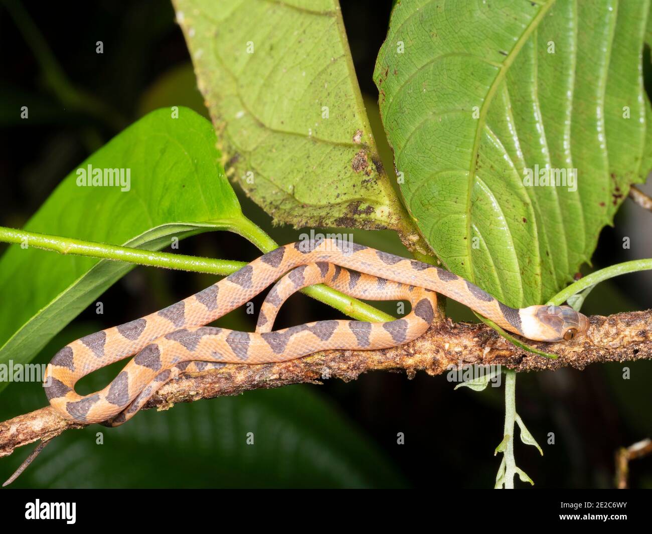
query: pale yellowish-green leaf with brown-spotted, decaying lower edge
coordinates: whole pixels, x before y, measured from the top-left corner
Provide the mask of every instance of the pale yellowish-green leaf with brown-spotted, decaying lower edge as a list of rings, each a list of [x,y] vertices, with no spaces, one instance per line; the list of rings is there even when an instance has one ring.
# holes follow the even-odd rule
[[[337,0],[173,3],[224,168],[256,203],[298,227],[419,239],[380,162]]]

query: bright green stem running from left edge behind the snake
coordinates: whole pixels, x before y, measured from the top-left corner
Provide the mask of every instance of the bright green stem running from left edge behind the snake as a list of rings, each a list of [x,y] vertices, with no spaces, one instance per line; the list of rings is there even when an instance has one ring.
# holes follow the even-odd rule
[[[263,252],[269,252],[278,247],[269,235],[249,220],[245,224],[239,222],[239,226],[237,228],[234,226],[233,230],[258,246]],[[246,265],[243,261],[213,260],[211,258],[198,258],[197,256],[184,256],[183,254],[170,254],[169,252],[152,252],[150,250],[141,250],[128,246],[107,245],[106,243],[82,241],[81,239],[72,239],[70,237],[14,230],[13,228],[5,228],[3,226],[0,226],[0,242],[25,243],[27,246],[52,250],[61,254],[76,254],[77,256],[126,261],[128,263],[138,263],[138,265],[178,269],[192,271],[194,273],[218,274],[221,276],[235,273],[235,271]],[[303,293],[322,303],[333,306],[336,310],[359,321],[376,323],[393,321],[395,319],[391,315],[374,308],[374,306],[353,299],[323,284],[305,288],[303,289]]]

